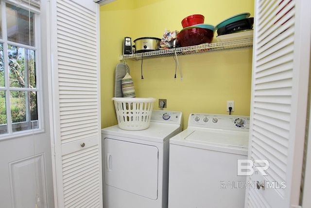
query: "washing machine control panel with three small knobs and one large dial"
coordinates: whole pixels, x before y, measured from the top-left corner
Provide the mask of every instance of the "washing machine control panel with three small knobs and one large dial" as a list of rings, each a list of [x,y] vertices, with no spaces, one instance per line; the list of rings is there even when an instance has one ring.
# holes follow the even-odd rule
[[[190,113],[188,126],[249,131],[249,116]]]

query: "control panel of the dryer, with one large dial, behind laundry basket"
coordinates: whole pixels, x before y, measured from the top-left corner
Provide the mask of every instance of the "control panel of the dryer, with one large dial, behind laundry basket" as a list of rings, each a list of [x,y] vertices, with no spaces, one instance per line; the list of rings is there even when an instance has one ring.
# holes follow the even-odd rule
[[[153,122],[180,124],[181,119],[182,113],[177,111],[153,110],[151,114],[151,121]]]

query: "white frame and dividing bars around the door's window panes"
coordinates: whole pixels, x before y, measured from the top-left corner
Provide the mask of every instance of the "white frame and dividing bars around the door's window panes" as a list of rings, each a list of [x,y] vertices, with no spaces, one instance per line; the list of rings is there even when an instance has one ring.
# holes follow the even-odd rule
[[[34,37],[35,37],[35,46],[24,45],[17,42],[12,42],[7,40],[7,26],[6,26],[6,3],[10,3],[14,6],[19,8],[29,10],[30,12],[34,13]],[[20,136],[26,136],[34,133],[41,133],[44,132],[44,117],[43,117],[43,91],[42,91],[42,65],[41,65],[41,17],[40,17],[40,10],[23,3],[22,1],[13,1],[13,0],[0,0],[1,4],[1,25],[2,25],[2,39],[0,38],[0,43],[3,44],[3,65],[4,65],[4,87],[0,87],[0,91],[5,92],[5,103],[6,103],[6,118],[7,118],[7,132],[0,134],[0,141],[10,138],[16,138]],[[9,85],[9,70],[8,70],[8,45],[14,45],[17,47],[22,47],[26,51],[26,49],[34,50],[35,51],[35,76],[36,76],[36,87],[35,88],[16,88],[10,87]],[[25,57],[26,57],[25,53]],[[36,122],[38,128],[36,129],[29,129],[29,130],[21,130],[14,132],[14,126],[17,124],[12,124],[11,118],[11,104],[10,104],[10,92],[19,91],[19,92],[36,92],[36,101],[37,101],[37,114],[38,120],[36,121],[24,121],[18,124],[21,125],[33,125]],[[1,130],[1,127],[0,127]]]

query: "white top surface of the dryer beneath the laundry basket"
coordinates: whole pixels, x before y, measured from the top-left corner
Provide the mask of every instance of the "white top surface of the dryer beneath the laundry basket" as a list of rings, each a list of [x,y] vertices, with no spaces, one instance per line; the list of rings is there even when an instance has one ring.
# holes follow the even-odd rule
[[[163,143],[173,135],[181,132],[181,128],[181,125],[178,124],[150,122],[149,128],[145,130],[128,131],[120,129],[119,125],[115,125],[102,129],[102,134]]]

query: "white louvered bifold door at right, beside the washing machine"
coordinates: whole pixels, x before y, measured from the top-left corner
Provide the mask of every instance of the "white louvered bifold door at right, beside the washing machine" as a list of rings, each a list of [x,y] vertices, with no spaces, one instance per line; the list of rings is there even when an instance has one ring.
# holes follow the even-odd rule
[[[256,0],[245,207],[299,204],[310,58],[310,1]],[[308,19],[305,19],[308,17]]]

